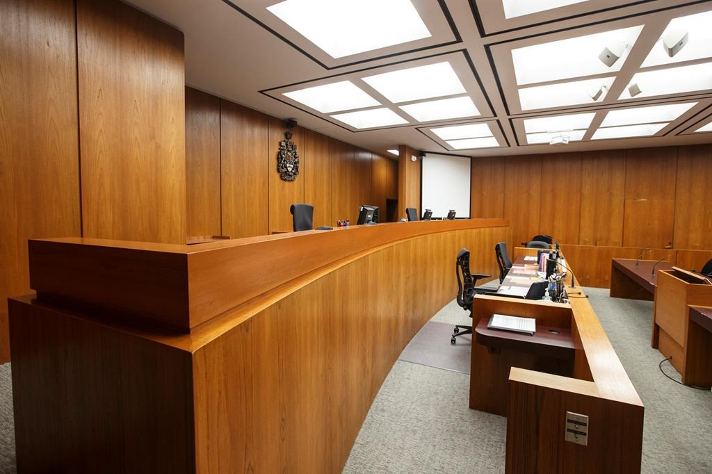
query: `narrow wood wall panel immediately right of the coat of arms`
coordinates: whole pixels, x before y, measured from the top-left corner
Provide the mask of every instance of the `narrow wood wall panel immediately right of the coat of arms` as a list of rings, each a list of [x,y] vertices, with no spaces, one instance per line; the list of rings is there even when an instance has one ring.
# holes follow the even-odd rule
[[[303,167],[304,201],[314,206],[314,228],[333,226],[332,214],[332,167],[333,139],[304,129],[302,153],[306,159]]]

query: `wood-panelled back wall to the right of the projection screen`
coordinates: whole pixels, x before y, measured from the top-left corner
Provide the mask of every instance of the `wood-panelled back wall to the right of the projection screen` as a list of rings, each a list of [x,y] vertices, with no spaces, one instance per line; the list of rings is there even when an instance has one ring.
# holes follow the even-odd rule
[[[584,285],[606,287],[610,258],[712,250],[711,158],[711,144],[474,158],[473,217],[510,219],[512,245],[554,236]]]

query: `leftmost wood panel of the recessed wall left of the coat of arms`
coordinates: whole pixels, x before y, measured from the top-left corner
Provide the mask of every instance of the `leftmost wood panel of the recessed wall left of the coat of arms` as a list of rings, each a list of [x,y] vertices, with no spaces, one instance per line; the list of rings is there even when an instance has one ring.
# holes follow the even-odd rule
[[[185,89],[187,234],[221,235],[220,99]]]

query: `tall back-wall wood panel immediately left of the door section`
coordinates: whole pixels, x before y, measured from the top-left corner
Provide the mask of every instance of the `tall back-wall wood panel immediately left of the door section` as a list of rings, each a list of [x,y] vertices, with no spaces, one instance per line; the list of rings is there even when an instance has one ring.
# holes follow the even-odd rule
[[[624,194],[624,150],[582,154],[581,245],[623,245]]]

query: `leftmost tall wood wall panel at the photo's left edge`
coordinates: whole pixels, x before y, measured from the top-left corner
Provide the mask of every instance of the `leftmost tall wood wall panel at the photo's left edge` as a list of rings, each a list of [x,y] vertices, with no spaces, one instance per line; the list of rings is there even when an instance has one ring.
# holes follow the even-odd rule
[[[75,9],[0,2],[0,363],[7,297],[27,293],[27,239],[80,236]]]

